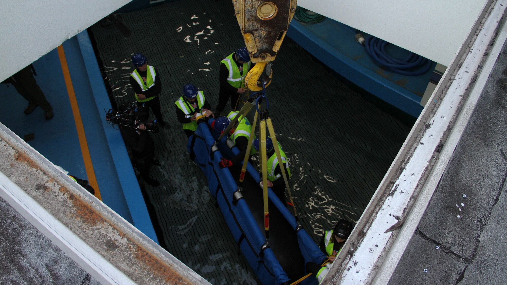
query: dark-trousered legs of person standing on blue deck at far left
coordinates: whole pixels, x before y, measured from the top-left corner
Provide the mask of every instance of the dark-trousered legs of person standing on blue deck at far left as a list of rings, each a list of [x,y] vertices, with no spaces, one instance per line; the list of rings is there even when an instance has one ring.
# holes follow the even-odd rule
[[[12,85],[28,101],[29,106],[39,105],[44,111],[52,110],[51,104],[46,99],[44,92],[42,92],[41,87],[35,81],[29,65],[19,70],[12,78],[14,79],[14,81],[11,81]],[[33,106],[33,109],[35,106]]]

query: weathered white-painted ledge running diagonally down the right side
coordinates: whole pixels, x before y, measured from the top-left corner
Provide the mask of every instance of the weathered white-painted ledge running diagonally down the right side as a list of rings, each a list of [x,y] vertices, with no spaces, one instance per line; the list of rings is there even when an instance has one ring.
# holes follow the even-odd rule
[[[386,257],[389,255],[392,245],[399,236],[400,229],[403,229],[404,221],[411,215],[412,207],[418,200],[418,195],[425,187],[426,182],[430,180],[428,177],[434,175],[433,170],[441,158],[440,153],[442,149],[446,148],[445,144],[453,128],[456,127],[457,123],[459,124],[457,128],[463,128],[463,122],[458,122],[462,117],[460,117],[460,112],[464,108],[470,92],[474,89],[476,80],[481,76],[484,63],[488,58],[492,57],[488,55],[488,53],[491,52],[493,43],[496,40],[496,35],[503,24],[505,6],[504,0],[489,0],[485,3],[468,37],[461,45],[460,50],[456,53],[452,64],[447,68],[444,77],[433,92],[400,152],[391,164],[373,198],[370,200],[366,210],[345,243],[343,250],[337,256],[337,259],[327,276],[322,280],[322,283],[387,283],[390,274],[384,275],[381,278],[382,280],[376,279],[376,275],[379,273],[382,264],[386,262]],[[495,17],[496,19],[493,20]],[[488,31],[485,33],[484,26],[487,26],[488,23]],[[473,46],[477,44],[483,47],[482,52],[481,50],[472,49]],[[494,56],[494,59],[496,59],[496,56]],[[469,63],[467,66],[464,66],[466,62]],[[458,75],[461,76],[465,73],[466,78],[460,83],[459,88],[455,88],[453,84],[457,82],[458,79],[461,79],[461,77],[458,78]],[[467,112],[470,111],[470,108],[473,110],[473,106],[466,106],[466,108]],[[441,116],[442,112],[445,112],[446,116]],[[447,117],[447,115],[449,117]],[[440,118],[442,118],[442,120],[440,120]],[[442,123],[437,121],[441,121]],[[466,122],[464,122],[464,125],[466,125]],[[439,132],[436,133],[436,137],[433,136],[430,138],[432,135],[428,135],[430,133],[428,130],[431,128],[439,129]],[[459,139],[459,136],[455,136],[454,140],[456,140],[456,137]],[[424,141],[426,142],[426,146],[423,143],[423,139],[426,140]],[[421,151],[421,149],[428,148],[430,144],[427,142],[429,141],[434,145],[431,145],[432,149],[426,150],[426,152]],[[456,141],[454,142],[457,143]],[[418,162],[414,162],[416,159],[413,159],[416,152],[418,154],[423,152],[422,154],[424,155],[418,157]],[[449,157],[450,155],[447,155],[447,162],[449,161]],[[447,165],[447,163],[445,163],[445,165]],[[413,171],[412,173],[410,173],[411,171],[407,172],[409,167],[414,167],[420,171]],[[445,166],[443,168],[445,168]],[[415,176],[412,180],[414,185],[411,186],[411,188],[401,189],[400,187],[399,189],[400,181],[408,180],[410,176]],[[433,178],[434,177],[431,177],[431,179]],[[404,193],[402,190],[406,192]],[[389,205],[389,202],[396,202],[396,199],[393,198],[394,196],[397,196],[395,198],[400,198],[400,200],[403,199],[403,202],[396,205],[397,208]],[[387,208],[392,212],[397,211],[397,215],[399,216],[393,214],[392,217],[390,217],[390,212],[389,215],[386,215],[388,213],[388,211],[386,211]],[[386,219],[386,216],[389,217]],[[382,220],[381,222],[376,221],[379,218]],[[387,229],[389,226],[391,227]],[[387,230],[384,232],[385,229]],[[375,231],[375,236],[378,234],[376,238],[372,237],[373,231]],[[368,240],[366,240],[367,238]],[[373,244],[379,247],[373,247],[372,244],[367,244],[370,241],[381,242]],[[366,254],[364,253],[365,248]],[[368,255],[368,251],[370,253],[375,253]],[[368,258],[370,260],[367,260]],[[397,261],[398,260],[395,260],[396,263]],[[393,260],[389,262],[393,262]],[[361,263],[363,264],[361,265]],[[359,271],[361,271],[360,274],[352,273],[358,273]]]

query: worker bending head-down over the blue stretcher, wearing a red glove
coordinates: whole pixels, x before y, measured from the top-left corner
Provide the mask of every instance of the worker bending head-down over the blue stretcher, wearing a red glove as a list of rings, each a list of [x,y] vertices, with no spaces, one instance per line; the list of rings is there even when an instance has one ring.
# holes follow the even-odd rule
[[[238,112],[231,112],[227,117],[219,117],[211,123],[211,127],[218,133],[222,134],[222,132],[229,126],[232,120],[238,115]],[[248,147],[248,139],[250,138],[252,126],[246,117],[242,118],[235,129],[231,129],[229,134],[231,136],[232,142],[239,149],[239,153],[235,155],[233,158],[226,159],[221,158],[222,160],[219,162],[220,168],[231,167],[234,164],[237,164],[245,158],[246,148]],[[253,135],[255,139],[255,134]],[[255,154],[257,151],[253,146],[250,147],[249,155]]]

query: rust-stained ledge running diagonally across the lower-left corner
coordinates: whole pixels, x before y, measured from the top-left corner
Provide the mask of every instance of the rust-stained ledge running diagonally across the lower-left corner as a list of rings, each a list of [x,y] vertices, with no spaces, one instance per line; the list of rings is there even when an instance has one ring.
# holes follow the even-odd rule
[[[102,264],[110,263],[128,277],[122,279],[120,276],[119,279],[107,281],[103,276],[93,276],[97,270],[90,270],[89,273],[97,280],[106,283],[126,280],[126,283],[137,284],[209,284],[71,180],[1,123],[0,160],[3,162],[0,164],[0,171],[5,174],[0,177],[3,180],[0,185],[2,190],[5,188],[15,190],[19,187],[50,216],[88,244],[97,256],[104,259]],[[17,187],[10,184],[8,180]],[[0,192],[5,193],[5,191]],[[12,202],[13,199],[10,201]],[[16,208],[14,205],[13,207]],[[20,213],[23,215],[23,211]],[[30,219],[27,220],[30,221]],[[34,226],[41,227],[43,224]],[[41,232],[46,233],[47,229]],[[54,241],[54,236],[48,236],[48,238],[53,238]],[[59,245],[58,242],[55,244]],[[71,245],[73,246],[78,245]],[[90,269],[89,264],[83,264],[83,259],[76,258],[75,253],[69,253],[68,248],[67,251],[66,248],[62,250],[83,268]],[[96,263],[99,264],[99,262]]]

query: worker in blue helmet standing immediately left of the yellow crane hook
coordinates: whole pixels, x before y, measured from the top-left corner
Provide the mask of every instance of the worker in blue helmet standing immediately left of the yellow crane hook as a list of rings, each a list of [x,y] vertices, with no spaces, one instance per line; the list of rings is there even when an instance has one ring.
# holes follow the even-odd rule
[[[216,117],[220,116],[224,110],[229,97],[231,98],[231,109],[233,111],[239,109],[239,97],[246,91],[245,77],[253,66],[255,63],[250,62],[250,55],[246,47],[239,48],[222,59],[219,73],[219,102],[214,110]]]

